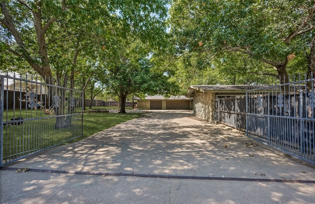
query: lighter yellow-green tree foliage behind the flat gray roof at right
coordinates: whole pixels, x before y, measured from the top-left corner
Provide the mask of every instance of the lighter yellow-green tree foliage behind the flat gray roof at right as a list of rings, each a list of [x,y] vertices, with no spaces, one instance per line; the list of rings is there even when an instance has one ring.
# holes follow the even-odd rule
[[[207,52],[191,52],[176,59],[172,78],[180,84],[181,94],[190,85],[250,84],[262,76],[277,76],[272,67],[239,52],[220,53],[211,58]]]

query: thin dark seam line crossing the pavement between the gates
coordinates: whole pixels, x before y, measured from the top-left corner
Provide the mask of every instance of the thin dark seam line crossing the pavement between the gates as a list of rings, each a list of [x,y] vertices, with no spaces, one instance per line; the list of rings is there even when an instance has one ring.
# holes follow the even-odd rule
[[[3,167],[1,171],[16,171],[19,168]],[[315,183],[315,180],[288,180],[268,178],[239,178],[239,177],[210,177],[210,176],[189,176],[189,175],[151,175],[151,174],[126,174],[126,173],[103,173],[103,172],[79,172],[64,170],[28,169],[30,172],[76,174],[76,175],[112,175],[112,176],[137,176],[151,178],[173,178],[173,179],[198,179],[198,180],[229,180],[229,181],[255,181],[255,182],[278,182],[278,183]]]

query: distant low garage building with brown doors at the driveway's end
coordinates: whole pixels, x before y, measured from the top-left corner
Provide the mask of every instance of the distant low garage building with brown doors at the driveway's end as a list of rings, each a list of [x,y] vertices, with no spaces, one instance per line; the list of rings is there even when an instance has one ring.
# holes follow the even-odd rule
[[[192,97],[172,96],[164,98],[162,95],[147,96],[144,100],[135,97],[139,110],[191,110]]]

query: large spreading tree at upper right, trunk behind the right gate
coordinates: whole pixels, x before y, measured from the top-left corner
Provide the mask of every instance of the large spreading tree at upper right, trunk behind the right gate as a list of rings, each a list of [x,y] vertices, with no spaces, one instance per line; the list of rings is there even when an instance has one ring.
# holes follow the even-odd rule
[[[307,0],[174,0],[171,33],[179,54],[240,52],[272,65],[285,83],[288,62],[311,42],[303,35],[314,29],[314,11]]]

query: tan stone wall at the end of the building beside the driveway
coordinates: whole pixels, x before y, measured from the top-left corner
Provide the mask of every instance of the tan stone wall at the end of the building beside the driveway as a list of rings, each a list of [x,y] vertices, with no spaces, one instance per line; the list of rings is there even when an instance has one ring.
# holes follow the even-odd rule
[[[193,97],[193,114],[203,120],[212,122],[215,93],[195,93]]]

